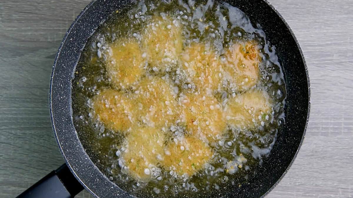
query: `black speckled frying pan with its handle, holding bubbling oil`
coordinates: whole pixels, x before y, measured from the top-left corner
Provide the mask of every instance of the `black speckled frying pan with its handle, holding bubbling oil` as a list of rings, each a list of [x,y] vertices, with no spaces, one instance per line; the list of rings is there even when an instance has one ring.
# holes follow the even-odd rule
[[[303,52],[292,30],[266,0],[226,0],[260,24],[276,46],[287,87],[286,123],[269,156],[249,175],[248,182],[232,187],[222,197],[263,197],[283,178],[298,154],[310,111],[310,83]],[[73,22],[56,55],[49,89],[49,107],[56,141],[66,164],[51,172],[18,197],[73,197],[86,188],[96,197],[132,197],[104,176],[84,151],[73,125],[71,80],[86,41],[97,27],[133,0],[94,0]],[[210,191],[210,197],[220,197]],[[196,195],[196,197],[198,197]]]

